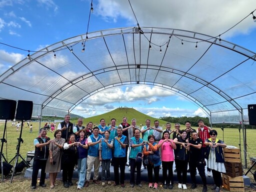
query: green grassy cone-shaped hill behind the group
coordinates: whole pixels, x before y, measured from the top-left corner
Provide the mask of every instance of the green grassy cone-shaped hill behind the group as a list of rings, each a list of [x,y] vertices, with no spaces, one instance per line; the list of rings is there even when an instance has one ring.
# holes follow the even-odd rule
[[[166,121],[164,121],[164,120],[148,116],[142,112],[135,110],[134,108],[124,108],[124,107],[121,108],[120,107],[120,108],[116,108],[112,111],[109,111],[109,112],[106,112],[106,113],[103,113],[100,115],[84,118],[83,125],[87,124],[89,121],[93,122],[94,125],[99,124],[99,120],[101,118],[105,119],[106,124],[110,123],[111,118],[115,118],[116,125],[118,125],[119,123],[122,122],[122,117],[124,117],[124,116],[127,117],[127,119],[128,119],[127,122],[129,124],[131,122],[131,119],[135,118],[138,126],[140,126],[140,124],[145,125],[145,120],[147,118],[151,120],[151,126],[153,126],[153,122],[156,119],[159,120],[159,126],[163,126],[163,128],[165,127],[165,123],[166,123]]]

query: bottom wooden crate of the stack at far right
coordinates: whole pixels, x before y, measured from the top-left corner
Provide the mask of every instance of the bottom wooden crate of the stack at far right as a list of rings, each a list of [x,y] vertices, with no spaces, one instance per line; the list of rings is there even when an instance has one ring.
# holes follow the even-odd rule
[[[223,188],[229,191],[235,191],[235,192],[244,191],[242,176],[231,177],[222,173],[222,185],[223,185]]]

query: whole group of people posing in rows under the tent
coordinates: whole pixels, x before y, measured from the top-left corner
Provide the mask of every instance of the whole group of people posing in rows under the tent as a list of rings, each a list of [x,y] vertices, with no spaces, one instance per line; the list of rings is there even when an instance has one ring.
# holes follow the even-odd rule
[[[122,123],[116,126],[116,119],[112,118],[110,125],[100,119],[98,126],[92,127],[89,122],[82,126],[82,118],[78,118],[73,125],[70,115],[65,115],[54,132],[54,139],[46,136],[47,130],[40,129],[40,134],[34,139],[35,153],[33,161],[31,188],[36,188],[36,178],[39,168],[41,175],[39,185],[44,187],[45,173],[49,172],[50,188],[57,185],[55,182],[57,172],[62,169],[62,181],[65,187],[73,185],[72,175],[77,164],[77,189],[87,187],[92,182],[100,184],[98,172],[101,163],[101,185],[113,184],[125,187],[125,165],[130,166],[130,187],[141,187],[140,169],[145,166],[148,175],[148,187],[157,188],[161,182],[163,188],[172,189],[173,162],[177,171],[178,188],[186,189],[187,165],[192,181],[191,188],[196,188],[196,168],[202,179],[202,191],[207,191],[204,166],[212,171],[214,191],[220,191],[221,172],[225,172],[223,151],[226,147],[223,141],[216,138],[216,130],[204,125],[198,120],[198,128],[192,129],[190,122],[185,123],[186,128],[180,130],[179,123],[171,129],[166,123],[165,129],[159,126],[159,121],[150,125],[150,119],[145,120],[145,126],[139,128],[136,119],[122,118]],[[129,155],[127,156],[127,151]],[[128,159],[127,159],[128,157]],[[113,165],[114,183],[110,181],[110,164]],[[162,178],[159,180],[159,169],[162,167]],[[137,170],[135,178],[135,170]]]

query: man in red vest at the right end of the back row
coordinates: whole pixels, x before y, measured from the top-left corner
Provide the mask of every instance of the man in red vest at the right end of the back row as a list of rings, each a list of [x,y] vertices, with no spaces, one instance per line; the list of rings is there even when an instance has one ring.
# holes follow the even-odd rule
[[[199,127],[196,129],[196,132],[198,134],[198,137],[200,139],[202,139],[202,155],[204,156],[205,152],[206,152],[206,145],[204,144],[204,142],[206,141],[206,139],[210,138],[210,131],[212,130],[209,126],[204,125],[204,122],[202,119],[198,119],[197,123],[199,125]],[[207,176],[211,176],[210,174],[210,168],[207,167]]]

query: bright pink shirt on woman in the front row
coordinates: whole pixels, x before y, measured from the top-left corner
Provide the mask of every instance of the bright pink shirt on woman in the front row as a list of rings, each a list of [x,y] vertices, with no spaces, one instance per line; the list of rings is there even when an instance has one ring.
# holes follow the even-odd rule
[[[171,139],[171,142],[173,140]],[[162,161],[173,161],[174,160],[174,154],[173,154],[173,148],[171,146],[170,142],[163,142],[163,139],[161,139],[158,143],[158,145],[162,143],[161,145],[161,160]]]

